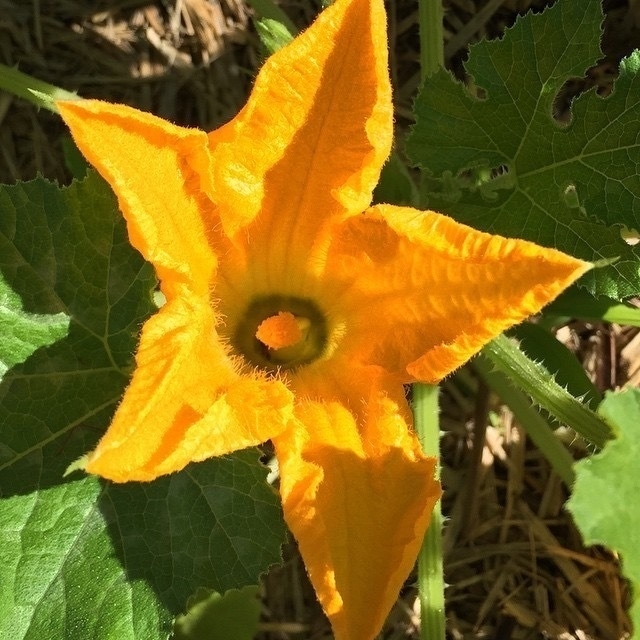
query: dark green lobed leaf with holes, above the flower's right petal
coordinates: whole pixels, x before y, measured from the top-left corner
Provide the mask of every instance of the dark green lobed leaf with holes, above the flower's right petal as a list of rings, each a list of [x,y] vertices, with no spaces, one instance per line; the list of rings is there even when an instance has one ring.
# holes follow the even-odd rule
[[[610,97],[591,90],[569,124],[552,117],[563,84],[601,57],[601,22],[596,0],[561,0],[472,46],[466,69],[485,98],[446,71],[428,78],[407,153],[441,178],[430,208],[585,260],[618,258],[582,282],[621,299],[640,292],[640,251],[621,236],[640,226],[640,53],[622,62]],[[498,167],[508,172],[487,178]]]

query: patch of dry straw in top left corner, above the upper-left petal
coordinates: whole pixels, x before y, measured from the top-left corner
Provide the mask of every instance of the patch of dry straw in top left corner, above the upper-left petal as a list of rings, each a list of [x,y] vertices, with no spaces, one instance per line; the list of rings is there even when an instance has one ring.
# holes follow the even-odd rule
[[[240,0],[0,0],[0,61],[184,125],[214,128],[243,104],[259,48]],[[0,180],[64,177],[59,119],[3,94]]]

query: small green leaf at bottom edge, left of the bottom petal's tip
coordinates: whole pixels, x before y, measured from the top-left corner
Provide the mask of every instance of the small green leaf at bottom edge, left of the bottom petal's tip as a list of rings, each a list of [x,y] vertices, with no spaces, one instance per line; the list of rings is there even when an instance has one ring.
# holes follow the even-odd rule
[[[231,589],[224,595],[200,589],[189,611],[174,626],[175,640],[252,640],[258,632],[258,587]]]

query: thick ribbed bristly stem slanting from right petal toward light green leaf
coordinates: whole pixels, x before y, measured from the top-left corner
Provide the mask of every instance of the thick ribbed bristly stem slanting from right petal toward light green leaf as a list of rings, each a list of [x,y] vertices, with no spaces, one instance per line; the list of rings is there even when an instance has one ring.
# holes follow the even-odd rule
[[[492,340],[482,353],[513,384],[589,442],[603,447],[612,437],[609,425],[598,414],[561,387],[542,365],[527,358],[506,336]]]

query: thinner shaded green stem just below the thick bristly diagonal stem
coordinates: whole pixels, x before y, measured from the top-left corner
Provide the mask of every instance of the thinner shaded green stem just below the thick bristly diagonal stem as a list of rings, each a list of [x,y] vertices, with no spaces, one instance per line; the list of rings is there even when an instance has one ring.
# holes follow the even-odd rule
[[[529,398],[516,389],[503,373],[494,369],[482,354],[473,361],[473,366],[513,411],[513,415],[549,461],[553,470],[568,487],[571,487],[575,479],[573,458],[564,444],[556,438],[547,421],[531,406]]]

